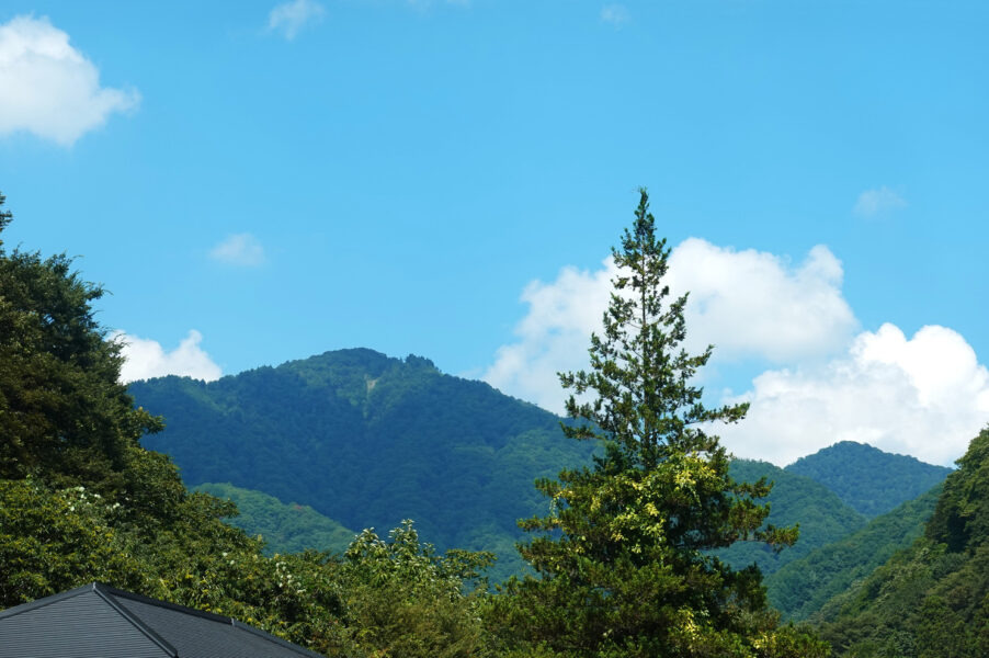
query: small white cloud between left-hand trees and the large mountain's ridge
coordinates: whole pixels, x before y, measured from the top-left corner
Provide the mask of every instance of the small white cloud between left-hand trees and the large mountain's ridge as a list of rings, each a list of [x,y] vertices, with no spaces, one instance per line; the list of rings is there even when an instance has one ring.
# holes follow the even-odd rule
[[[213,382],[223,374],[209,354],[200,347],[203,334],[195,329],[190,330],[189,336],[171,352],[166,352],[157,341],[129,336],[123,331],[113,332],[111,339],[123,343],[124,365],[121,367],[121,382],[125,384],[164,375]]]

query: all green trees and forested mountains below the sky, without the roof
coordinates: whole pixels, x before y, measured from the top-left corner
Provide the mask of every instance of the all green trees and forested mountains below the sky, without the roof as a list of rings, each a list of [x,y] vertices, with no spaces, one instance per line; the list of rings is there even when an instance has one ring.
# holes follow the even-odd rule
[[[734,460],[645,191],[567,419],[367,349],[124,386],[104,288],[3,201],[0,609],[99,580],[328,657],[989,655],[989,428],[954,470]]]

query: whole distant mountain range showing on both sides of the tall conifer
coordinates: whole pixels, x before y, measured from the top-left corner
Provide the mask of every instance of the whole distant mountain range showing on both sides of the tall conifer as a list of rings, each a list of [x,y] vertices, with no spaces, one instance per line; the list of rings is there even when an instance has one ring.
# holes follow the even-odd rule
[[[546,510],[533,481],[589,464],[595,449],[566,439],[553,413],[487,384],[443,374],[427,359],[366,349],[209,384],[137,382],[130,394],[166,418],[166,431],[145,446],[171,455],[186,486],[234,499],[241,517],[232,523],[262,534],[273,551],[340,549],[354,531],[412,519],[440,549],[492,551],[494,580],[522,568],[516,520]],[[775,481],[770,522],[799,522],[800,541],[778,555],[758,544],[719,554],[773,574],[862,531],[947,473],[850,442],[785,469],[738,461],[737,479]]]

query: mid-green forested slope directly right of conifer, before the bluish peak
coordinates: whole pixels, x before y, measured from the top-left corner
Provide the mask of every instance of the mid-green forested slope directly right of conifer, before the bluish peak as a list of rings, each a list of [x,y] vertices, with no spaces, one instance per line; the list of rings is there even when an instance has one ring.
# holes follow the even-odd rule
[[[823,485],[768,462],[736,460],[729,473],[738,481],[753,483],[763,477],[771,481],[773,490],[765,499],[770,506],[766,523],[800,527],[799,540],[786,551],[773,551],[764,542],[736,542],[714,553],[736,569],[754,563],[763,575],[772,574],[866,523],[864,517]]]

